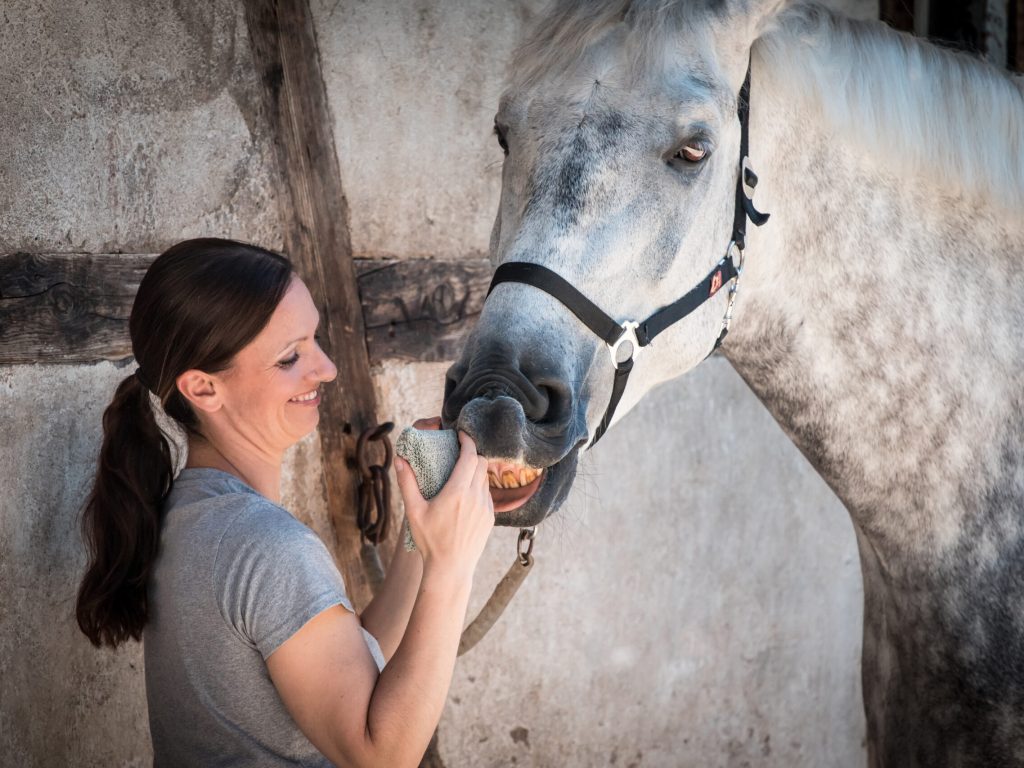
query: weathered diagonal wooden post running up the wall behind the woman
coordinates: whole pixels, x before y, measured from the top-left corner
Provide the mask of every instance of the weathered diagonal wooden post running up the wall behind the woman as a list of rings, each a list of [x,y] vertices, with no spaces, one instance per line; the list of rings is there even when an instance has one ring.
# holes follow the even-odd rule
[[[245,0],[284,191],[281,221],[289,257],[321,307],[322,346],[338,366],[325,388],[319,439],[334,553],[356,610],[371,598],[359,559],[355,440],[376,423],[348,206],[308,0]]]

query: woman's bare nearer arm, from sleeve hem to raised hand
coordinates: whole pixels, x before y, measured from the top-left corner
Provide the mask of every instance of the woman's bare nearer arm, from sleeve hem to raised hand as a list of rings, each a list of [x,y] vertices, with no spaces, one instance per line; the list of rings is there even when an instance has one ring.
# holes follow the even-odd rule
[[[456,469],[429,503],[409,465],[398,462],[423,575],[404,636],[380,675],[358,617],[340,606],[319,613],[267,658],[299,728],[340,765],[415,768],[440,720],[473,570],[494,525],[486,461],[468,436],[460,440]]]

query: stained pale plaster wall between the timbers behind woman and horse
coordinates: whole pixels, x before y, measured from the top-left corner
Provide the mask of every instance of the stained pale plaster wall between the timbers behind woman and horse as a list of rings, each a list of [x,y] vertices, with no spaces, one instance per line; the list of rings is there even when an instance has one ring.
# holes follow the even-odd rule
[[[483,253],[490,120],[540,1],[311,5],[357,253]],[[3,22],[0,251],[281,245],[237,4],[7,0]],[[443,368],[375,372],[382,413],[436,413]],[[93,650],[72,615],[99,418],[130,370],[0,367],[0,766],[151,760],[140,649]],[[286,499],[325,534],[318,461],[315,439],[293,452]],[[496,532],[473,609],[514,537]],[[609,433],[537,553],[459,665],[449,766],[863,762],[849,522],[724,361]]]

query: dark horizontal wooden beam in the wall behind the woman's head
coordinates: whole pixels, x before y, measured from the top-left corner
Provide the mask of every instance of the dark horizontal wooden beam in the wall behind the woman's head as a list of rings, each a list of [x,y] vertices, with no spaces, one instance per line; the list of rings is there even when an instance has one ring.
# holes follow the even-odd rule
[[[0,365],[123,360],[156,254],[0,255]],[[356,259],[370,361],[454,359],[483,305],[485,259]]]

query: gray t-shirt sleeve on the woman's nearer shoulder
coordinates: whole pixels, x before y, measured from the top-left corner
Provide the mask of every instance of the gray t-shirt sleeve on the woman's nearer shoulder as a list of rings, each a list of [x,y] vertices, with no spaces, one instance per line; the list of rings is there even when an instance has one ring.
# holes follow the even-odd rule
[[[269,502],[247,505],[228,523],[213,571],[221,615],[263,658],[332,605],[352,610],[324,543]]]

